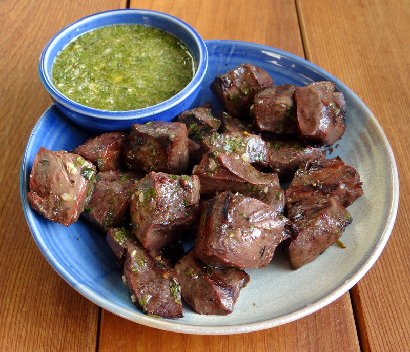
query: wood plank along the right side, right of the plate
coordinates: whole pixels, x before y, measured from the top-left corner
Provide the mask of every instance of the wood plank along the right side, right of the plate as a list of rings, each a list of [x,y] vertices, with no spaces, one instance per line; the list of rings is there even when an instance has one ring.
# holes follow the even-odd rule
[[[361,97],[396,156],[401,175],[396,225],[379,260],[352,289],[352,297],[363,350],[404,350],[410,344],[410,125],[403,123],[410,101],[408,1],[335,0],[318,9],[309,0],[298,0],[297,6],[309,60]]]

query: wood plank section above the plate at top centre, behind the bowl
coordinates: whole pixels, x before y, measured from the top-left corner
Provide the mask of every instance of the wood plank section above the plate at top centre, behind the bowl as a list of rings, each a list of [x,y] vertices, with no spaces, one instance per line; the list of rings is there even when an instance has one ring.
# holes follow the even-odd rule
[[[130,0],[130,8],[169,13],[204,39],[253,42],[304,55],[294,1]]]

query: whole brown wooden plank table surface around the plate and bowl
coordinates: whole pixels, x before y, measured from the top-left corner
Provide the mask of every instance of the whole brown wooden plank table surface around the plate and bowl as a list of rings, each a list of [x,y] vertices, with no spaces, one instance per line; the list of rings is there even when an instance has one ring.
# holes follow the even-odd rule
[[[409,350],[409,5],[408,0],[2,1],[0,350]],[[51,103],[38,77],[38,57],[51,36],[70,22],[125,7],[177,16],[204,39],[255,42],[305,57],[338,77],[372,110],[395,153],[400,206],[382,255],[350,292],[276,328],[231,336],[184,335],[101,309],[47,263],[26,225],[19,195],[26,141]]]

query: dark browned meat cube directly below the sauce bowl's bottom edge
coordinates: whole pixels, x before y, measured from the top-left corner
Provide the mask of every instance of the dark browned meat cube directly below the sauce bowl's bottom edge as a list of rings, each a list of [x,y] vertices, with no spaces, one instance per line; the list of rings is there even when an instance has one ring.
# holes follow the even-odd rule
[[[189,163],[188,131],[180,122],[151,121],[131,125],[126,166],[136,171],[182,174]]]

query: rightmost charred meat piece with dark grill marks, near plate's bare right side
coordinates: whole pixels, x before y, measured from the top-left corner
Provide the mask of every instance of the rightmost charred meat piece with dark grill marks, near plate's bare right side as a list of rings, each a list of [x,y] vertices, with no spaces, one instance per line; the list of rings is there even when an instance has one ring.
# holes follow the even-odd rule
[[[317,159],[300,167],[285,191],[286,205],[312,197],[332,194],[344,207],[363,194],[358,172],[340,157]]]

